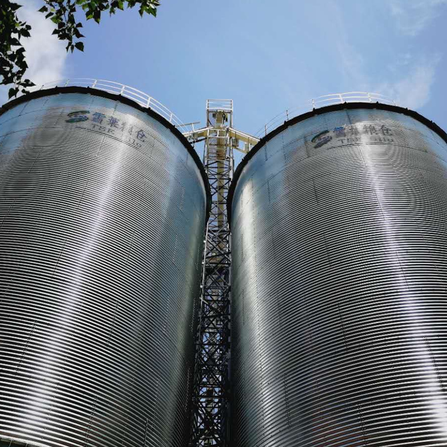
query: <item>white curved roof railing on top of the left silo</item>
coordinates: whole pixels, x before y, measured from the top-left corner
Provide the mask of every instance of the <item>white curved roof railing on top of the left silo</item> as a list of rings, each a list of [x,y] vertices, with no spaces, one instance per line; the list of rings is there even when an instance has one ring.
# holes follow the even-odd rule
[[[107,91],[109,93],[114,93],[132,99],[142,107],[151,109],[158,115],[168,120],[175,127],[179,128],[180,132],[186,132],[190,130],[191,126],[189,124],[184,124],[173,112],[171,112],[166,106],[161,104],[161,102],[152,98],[152,96],[149,96],[143,91],[137,90],[134,87],[129,87],[129,85],[121,84],[120,82],[114,82],[105,79],[93,79],[89,77],[79,77],[74,79],[60,79],[57,81],[48,82],[41,85],[40,87],[37,87],[36,89],[43,90],[54,87],[74,86],[95,88],[97,90]]]

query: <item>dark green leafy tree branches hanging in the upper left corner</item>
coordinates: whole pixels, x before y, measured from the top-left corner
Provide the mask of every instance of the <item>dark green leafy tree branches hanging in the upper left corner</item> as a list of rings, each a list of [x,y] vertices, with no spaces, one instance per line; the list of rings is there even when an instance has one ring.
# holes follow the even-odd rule
[[[141,16],[145,13],[156,16],[160,0],[43,0],[43,3],[39,12],[55,24],[53,34],[67,42],[67,51],[73,52],[74,49],[84,51],[80,40],[84,36],[79,31],[82,22],[76,21],[78,9],[83,11],[87,20],[99,23],[101,13],[108,11],[112,15],[125,7],[137,6]],[[16,11],[19,7],[10,0],[0,0],[0,84],[14,84],[9,89],[9,97],[16,96],[19,91],[25,93],[27,87],[34,85],[29,79],[23,79],[28,66],[20,39],[30,36],[31,26],[18,19]]]

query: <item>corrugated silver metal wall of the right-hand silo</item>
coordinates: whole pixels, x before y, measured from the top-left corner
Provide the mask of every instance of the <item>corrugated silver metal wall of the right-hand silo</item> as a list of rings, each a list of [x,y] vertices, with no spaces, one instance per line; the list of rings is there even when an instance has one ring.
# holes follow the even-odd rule
[[[298,121],[240,170],[235,447],[447,444],[447,145],[377,107]]]

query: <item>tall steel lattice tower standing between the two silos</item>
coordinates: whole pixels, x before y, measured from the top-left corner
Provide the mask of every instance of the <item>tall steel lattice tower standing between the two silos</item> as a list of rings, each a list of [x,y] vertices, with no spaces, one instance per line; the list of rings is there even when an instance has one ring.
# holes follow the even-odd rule
[[[233,101],[207,101],[207,127],[186,134],[205,141],[203,163],[212,205],[205,236],[202,299],[197,336],[191,446],[226,446],[230,357],[231,240],[226,213],[233,149],[248,152],[258,139],[236,131]],[[239,143],[245,142],[244,149]]]

